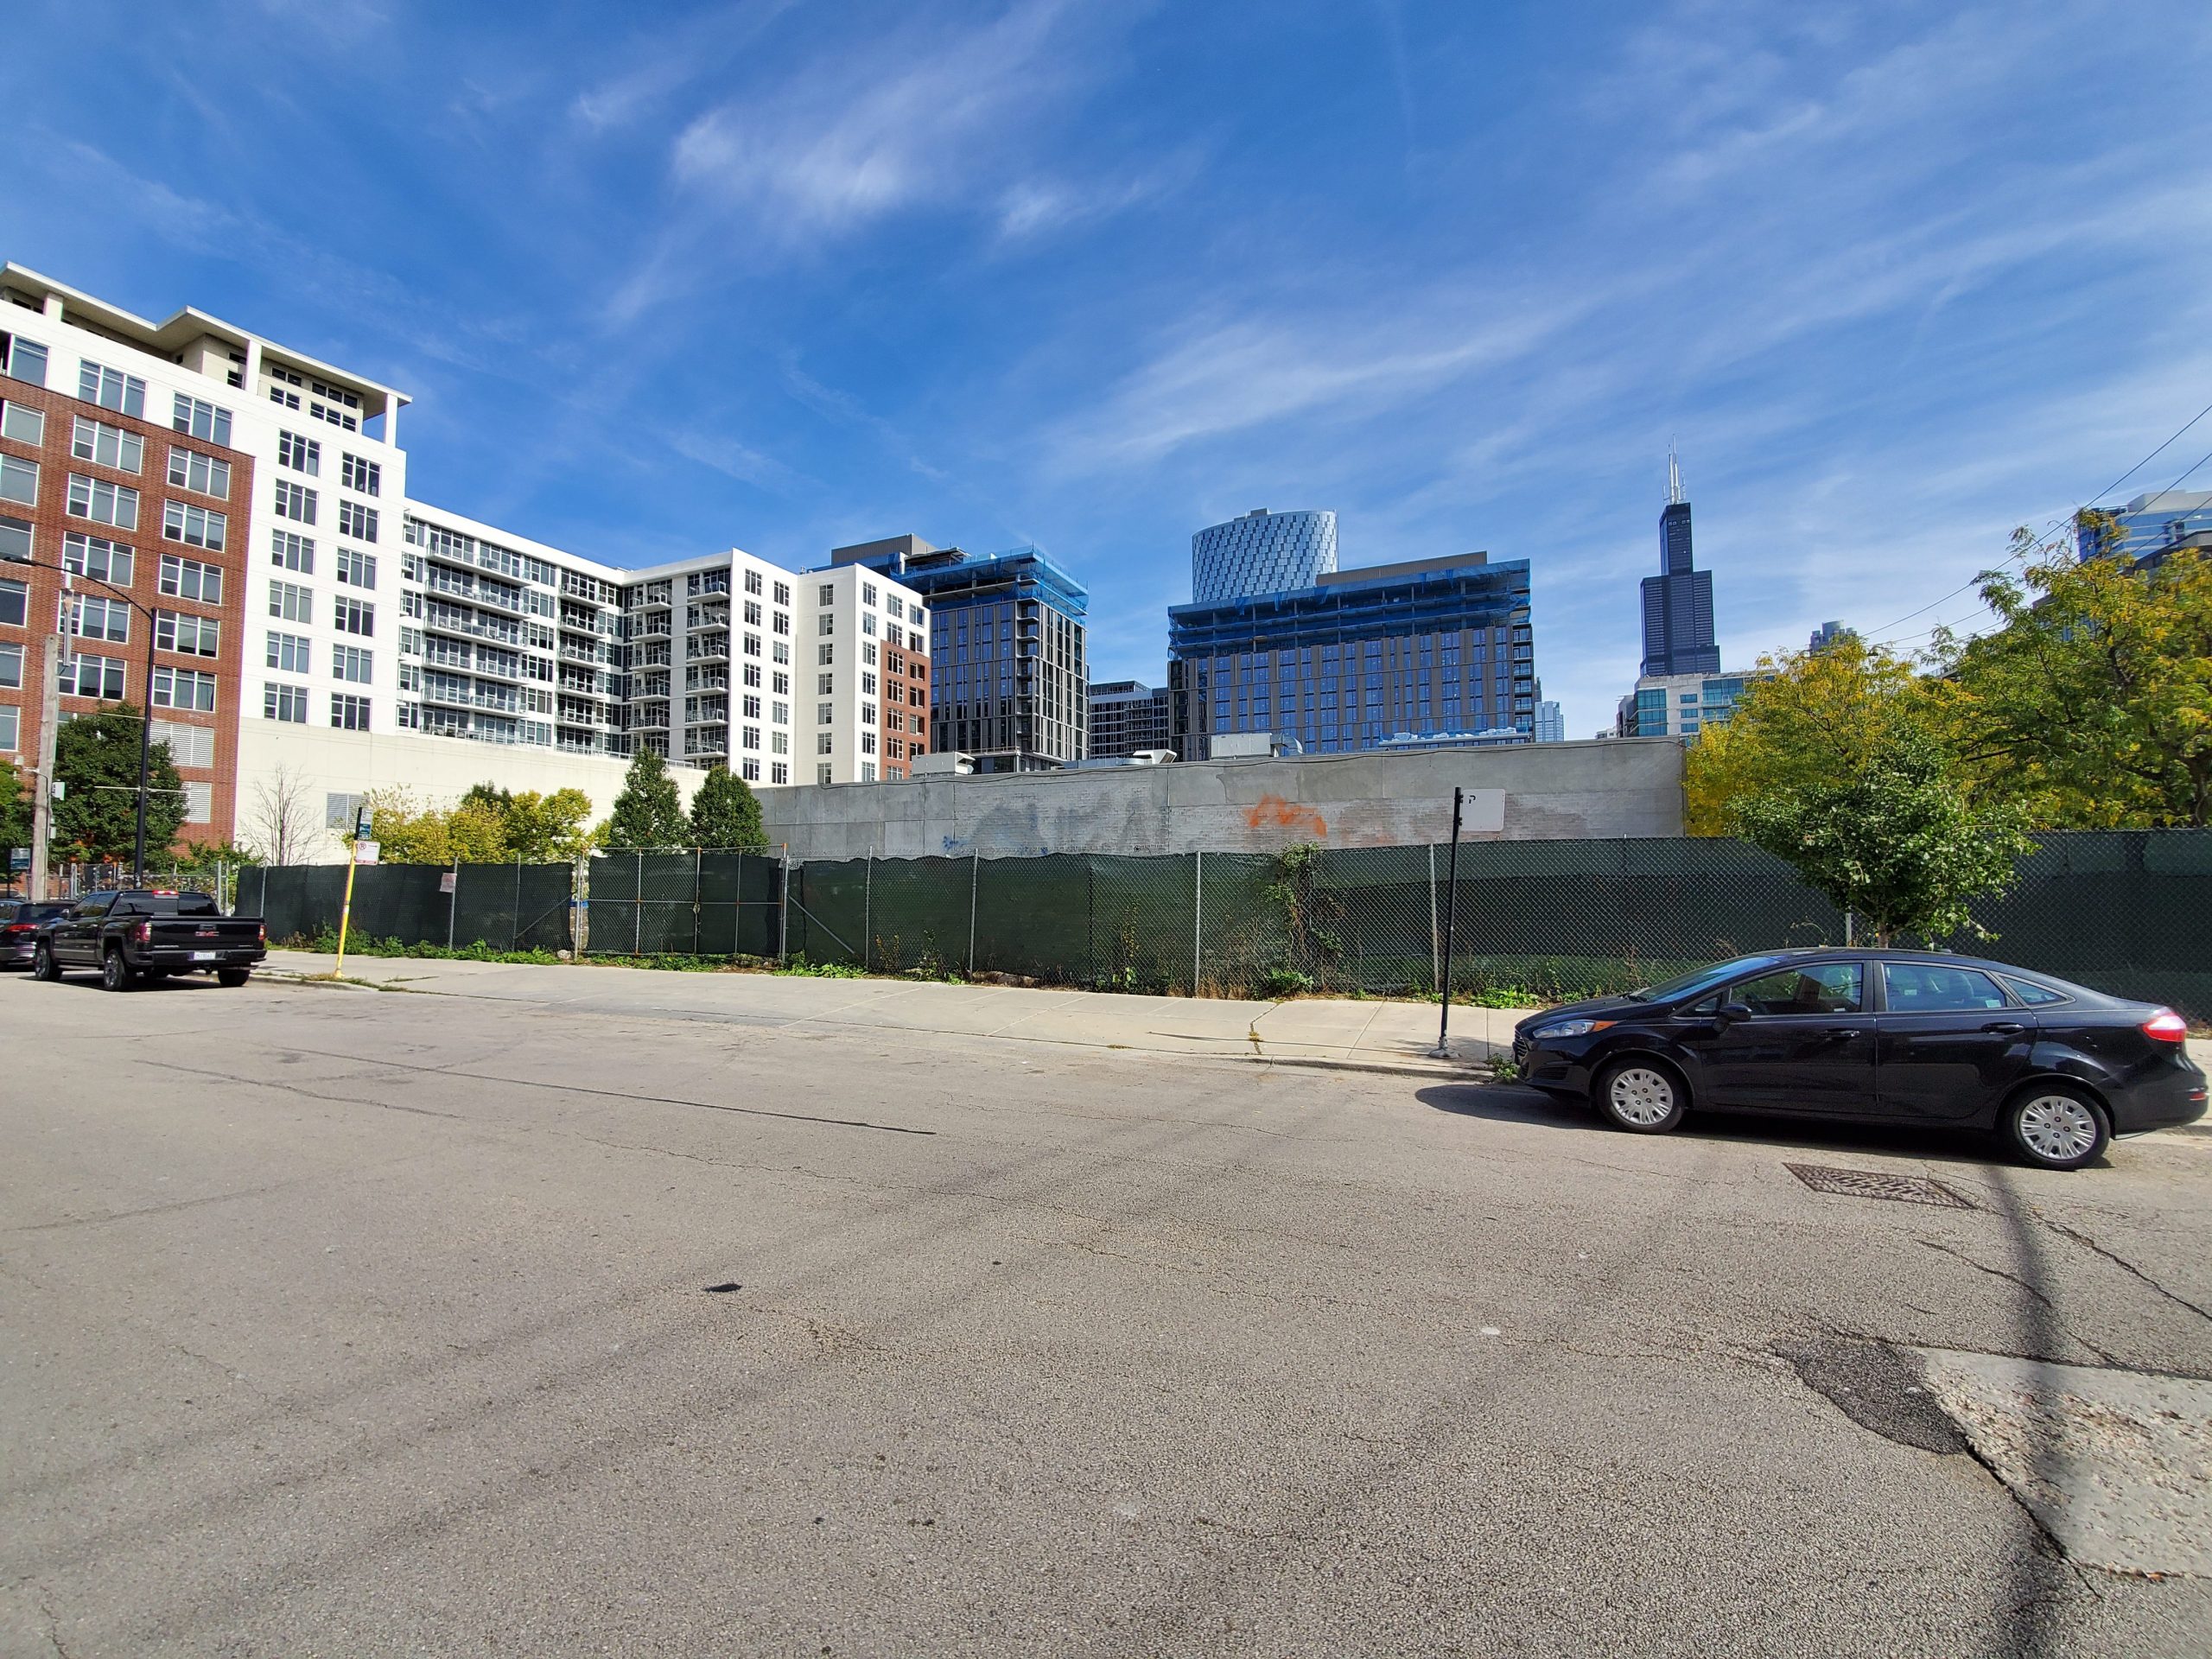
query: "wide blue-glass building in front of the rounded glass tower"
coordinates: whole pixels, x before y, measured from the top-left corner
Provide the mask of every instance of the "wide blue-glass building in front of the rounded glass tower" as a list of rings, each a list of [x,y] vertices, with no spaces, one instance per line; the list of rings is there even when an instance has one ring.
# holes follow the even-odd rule
[[[1168,692],[1183,759],[1206,759],[1217,732],[1276,732],[1318,754],[1400,732],[1533,732],[1528,562],[1475,553],[1172,606]]]

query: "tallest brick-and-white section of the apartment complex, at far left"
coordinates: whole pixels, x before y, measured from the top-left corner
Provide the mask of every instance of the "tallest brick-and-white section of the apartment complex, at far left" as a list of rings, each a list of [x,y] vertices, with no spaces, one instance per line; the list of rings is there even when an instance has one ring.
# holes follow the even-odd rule
[[[223,841],[241,721],[396,730],[398,392],[13,263],[0,358],[0,754],[35,759],[53,653],[64,719],[150,703]]]

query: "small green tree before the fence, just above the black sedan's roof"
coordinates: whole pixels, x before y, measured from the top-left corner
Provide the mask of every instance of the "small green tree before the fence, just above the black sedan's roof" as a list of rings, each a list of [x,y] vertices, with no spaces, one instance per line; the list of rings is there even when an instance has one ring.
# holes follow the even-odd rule
[[[1847,772],[1736,796],[1730,827],[1865,918],[1878,945],[1980,933],[1971,900],[2004,891],[2035,843],[2017,807],[1969,805],[1949,768],[1933,737],[1902,728]]]

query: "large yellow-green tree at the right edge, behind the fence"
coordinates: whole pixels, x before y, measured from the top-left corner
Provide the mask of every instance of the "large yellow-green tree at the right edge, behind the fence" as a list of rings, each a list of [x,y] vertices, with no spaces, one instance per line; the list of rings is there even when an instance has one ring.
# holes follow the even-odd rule
[[[2077,564],[2028,531],[2013,551],[2022,575],[1982,584],[2004,626],[1933,648],[1936,703],[1980,792],[2051,827],[2212,823],[2212,560]]]

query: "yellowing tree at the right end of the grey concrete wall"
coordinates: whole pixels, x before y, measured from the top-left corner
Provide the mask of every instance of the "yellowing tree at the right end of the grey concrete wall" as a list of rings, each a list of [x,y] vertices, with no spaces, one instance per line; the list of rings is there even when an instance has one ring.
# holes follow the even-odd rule
[[[1856,774],[1909,730],[1933,730],[1933,714],[1913,666],[1891,650],[1845,635],[1825,650],[1761,657],[1734,714],[1690,748],[1686,827],[1725,836],[1732,801]]]

